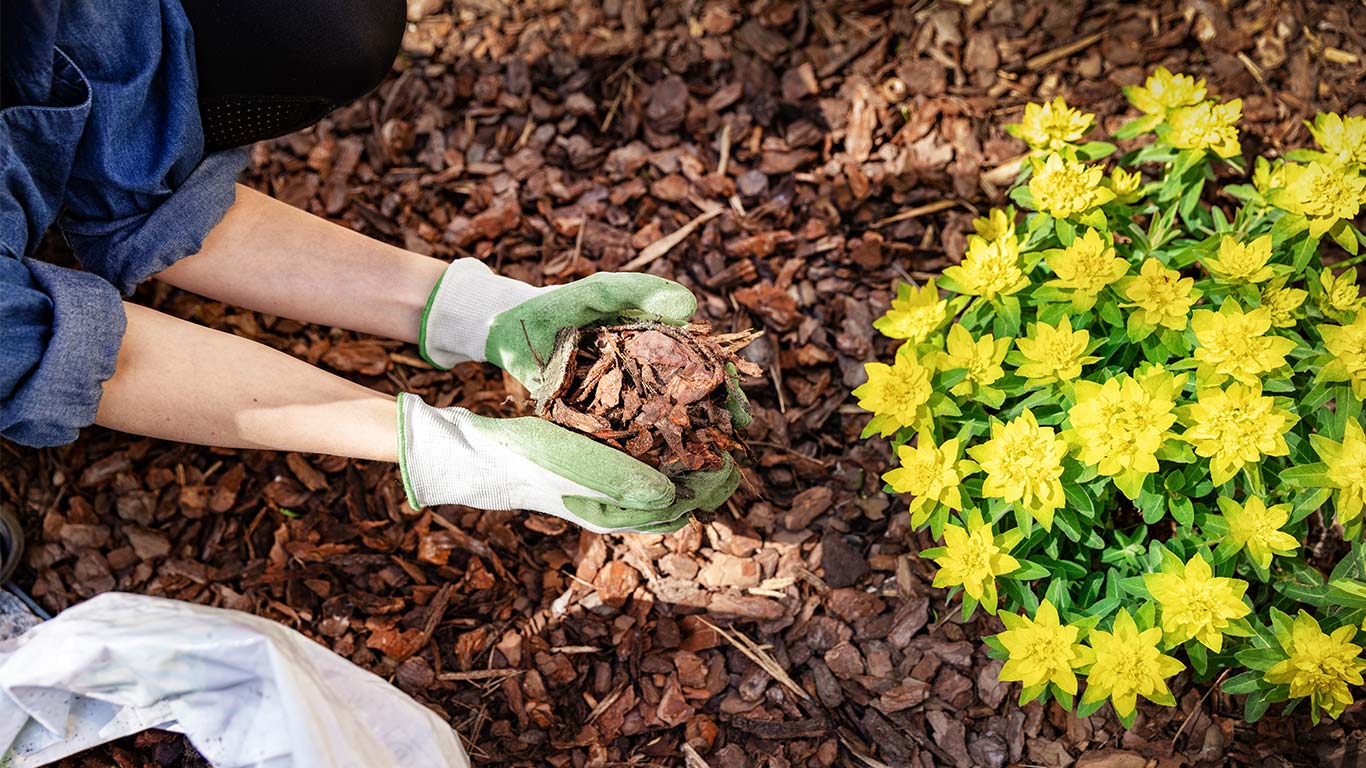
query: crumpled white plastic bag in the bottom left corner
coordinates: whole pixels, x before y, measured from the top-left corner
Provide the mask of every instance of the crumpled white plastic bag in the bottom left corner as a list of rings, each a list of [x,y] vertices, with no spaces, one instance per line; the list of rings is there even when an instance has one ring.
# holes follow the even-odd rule
[[[148,728],[217,768],[467,768],[455,731],[381,678],[250,614],[107,593],[0,642],[0,765]]]

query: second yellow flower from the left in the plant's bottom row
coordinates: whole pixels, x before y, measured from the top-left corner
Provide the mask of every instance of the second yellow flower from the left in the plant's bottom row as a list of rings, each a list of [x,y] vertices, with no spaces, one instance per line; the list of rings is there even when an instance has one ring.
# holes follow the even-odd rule
[[[1091,630],[1087,642],[1096,661],[1086,674],[1082,704],[1109,698],[1120,717],[1134,713],[1139,696],[1171,705],[1172,691],[1167,687],[1167,678],[1184,670],[1186,664],[1158,650],[1161,640],[1160,627],[1138,631],[1127,608],[1120,608],[1111,631]]]

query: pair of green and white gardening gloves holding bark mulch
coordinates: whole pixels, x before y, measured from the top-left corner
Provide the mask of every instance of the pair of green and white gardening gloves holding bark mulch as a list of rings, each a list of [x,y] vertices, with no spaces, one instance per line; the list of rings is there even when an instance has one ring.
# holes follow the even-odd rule
[[[492,362],[538,391],[538,361],[550,357],[560,328],[622,318],[683,325],[695,310],[687,288],[652,275],[602,273],[537,288],[464,258],[432,290],[419,348],[440,369]],[[731,392],[743,399],[738,387]],[[744,402],[728,404],[732,411],[749,409]],[[725,503],[740,477],[727,459],[720,470],[669,480],[549,421],[436,409],[411,394],[399,395],[399,466],[414,508],[534,510],[594,533],[678,530],[690,512]]]

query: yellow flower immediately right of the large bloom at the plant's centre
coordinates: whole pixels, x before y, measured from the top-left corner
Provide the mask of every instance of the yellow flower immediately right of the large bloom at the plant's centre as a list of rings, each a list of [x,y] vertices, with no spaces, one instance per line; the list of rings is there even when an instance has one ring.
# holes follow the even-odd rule
[[[1285,430],[1291,417],[1262,395],[1259,384],[1229,384],[1224,389],[1201,389],[1194,404],[1182,409],[1190,426],[1182,439],[1195,454],[1209,459],[1214,485],[1228,482],[1244,465],[1262,456],[1284,456]]]

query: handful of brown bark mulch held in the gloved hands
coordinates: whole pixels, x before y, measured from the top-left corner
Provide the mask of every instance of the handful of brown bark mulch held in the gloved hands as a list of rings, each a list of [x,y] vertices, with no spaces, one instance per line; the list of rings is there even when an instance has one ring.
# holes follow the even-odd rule
[[[736,377],[762,373],[736,353],[761,335],[713,335],[703,324],[564,328],[535,413],[664,474],[721,469],[746,450],[738,430],[749,420],[728,407],[744,402]]]

